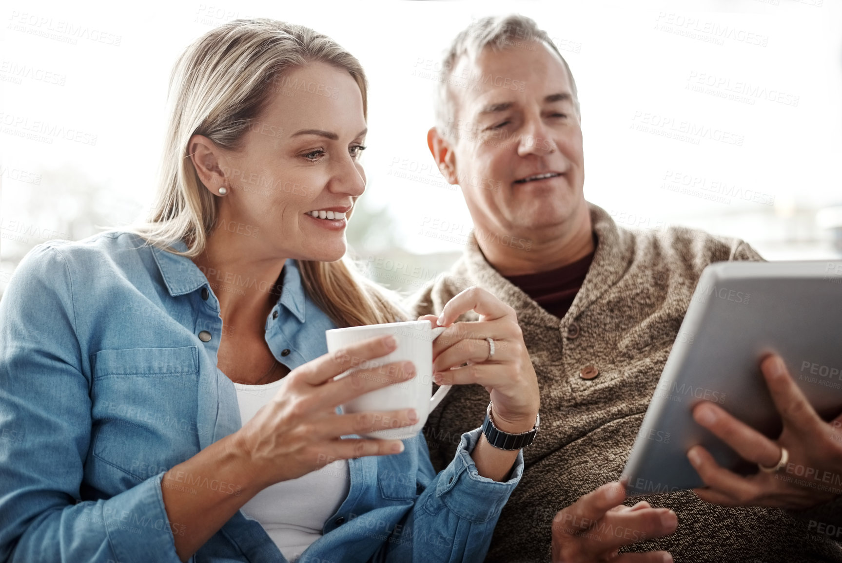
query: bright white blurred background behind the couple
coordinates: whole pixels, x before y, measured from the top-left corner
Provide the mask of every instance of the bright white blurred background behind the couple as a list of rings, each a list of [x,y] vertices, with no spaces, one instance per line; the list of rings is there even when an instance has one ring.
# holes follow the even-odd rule
[[[536,19],[571,66],[585,195],[619,224],[738,236],[768,259],[842,256],[839,0],[12,0],[0,8],[0,293],[40,242],[148,209],[174,61],[248,17],[308,25],[365,66],[369,184],[349,242],[370,277],[417,289],[472,228],[425,141],[443,51],[472,19],[511,12]]]

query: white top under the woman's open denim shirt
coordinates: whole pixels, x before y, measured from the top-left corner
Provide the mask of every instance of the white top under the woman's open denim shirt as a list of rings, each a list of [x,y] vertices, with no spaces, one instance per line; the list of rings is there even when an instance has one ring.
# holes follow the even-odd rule
[[[271,400],[282,381],[234,384],[242,424]],[[322,536],[322,526],[348,497],[349,486],[348,461],[338,459],[298,479],[266,487],[242,506],[242,513],[257,520],[284,557],[295,563]]]

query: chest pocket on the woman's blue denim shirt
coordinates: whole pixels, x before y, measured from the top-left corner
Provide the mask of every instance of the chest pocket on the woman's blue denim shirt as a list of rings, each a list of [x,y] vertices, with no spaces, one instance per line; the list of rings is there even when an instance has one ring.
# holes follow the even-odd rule
[[[92,468],[133,486],[199,450],[199,350],[108,349],[91,354]],[[111,473],[110,479],[103,473]],[[97,475],[92,475],[98,481]]]

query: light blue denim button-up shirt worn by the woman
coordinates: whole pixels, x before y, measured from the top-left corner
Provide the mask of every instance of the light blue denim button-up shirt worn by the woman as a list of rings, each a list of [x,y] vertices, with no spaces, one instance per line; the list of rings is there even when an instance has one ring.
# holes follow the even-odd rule
[[[0,301],[0,561],[177,563],[173,534],[191,523],[168,522],[163,473],[241,427],[208,279],[252,282],[140,245],[113,231],[45,242]],[[288,260],[266,343],[295,369],[327,353],[328,328]],[[478,437],[438,437],[461,439],[438,475],[421,434],[402,454],[349,460],[348,497],[301,563],[482,560],[523,456],[491,481],[470,457]],[[213,475],[184,486],[240,491]],[[285,562],[242,512],[190,560]]]

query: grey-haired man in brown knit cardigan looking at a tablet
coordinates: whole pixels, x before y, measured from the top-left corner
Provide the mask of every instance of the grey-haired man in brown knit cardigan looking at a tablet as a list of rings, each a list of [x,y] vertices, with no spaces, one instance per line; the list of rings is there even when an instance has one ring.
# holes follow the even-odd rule
[[[842,561],[839,544],[812,533],[797,513],[712,504],[788,506],[728,489],[730,476],[704,451],[691,452],[697,470],[730,497],[701,491],[705,502],[681,491],[618,507],[625,491],[605,485],[621,475],[701,271],[759,254],[701,231],[629,231],[584,199],[576,85],[530,19],[482,19],[456,37],[443,64],[437,121],[430,151],[445,178],[461,186],[475,230],[450,273],[413,296],[414,311],[449,325],[455,319],[443,319],[453,316],[443,309],[453,295],[472,285],[492,292],[517,312],[541,385],[540,431],[524,449],[525,474],[488,560],[591,561],[612,559],[616,550],[668,550],[694,562]],[[784,385],[788,375],[775,365],[764,365],[767,379]],[[487,407],[478,385],[450,390],[425,430],[437,468]],[[701,414],[711,415],[705,424],[719,435],[749,433],[734,430],[738,423],[715,407],[697,411],[700,423]],[[533,424],[521,422],[521,430]],[[782,456],[769,440],[749,443],[759,445],[738,451],[756,463],[774,466]],[[771,476],[764,483],[779,486]],[[661,551],[616,560],[670,558]]]

